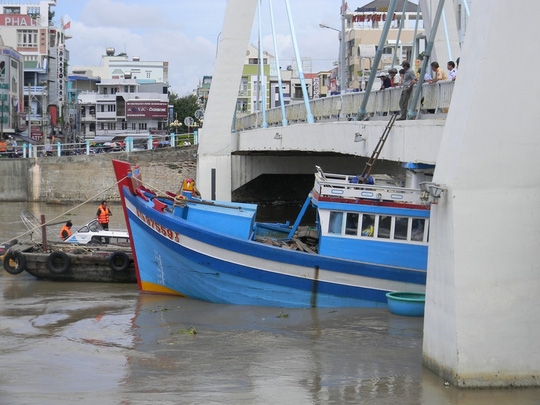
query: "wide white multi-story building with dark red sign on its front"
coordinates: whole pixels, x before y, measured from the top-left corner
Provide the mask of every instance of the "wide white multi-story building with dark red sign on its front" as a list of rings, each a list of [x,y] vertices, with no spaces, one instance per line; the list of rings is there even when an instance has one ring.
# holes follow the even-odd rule
[[[115,55],[113,48],[107,48],[101,66],[74,67],[69,86],[73,140],[167,134],[168,68],[168,62]]]

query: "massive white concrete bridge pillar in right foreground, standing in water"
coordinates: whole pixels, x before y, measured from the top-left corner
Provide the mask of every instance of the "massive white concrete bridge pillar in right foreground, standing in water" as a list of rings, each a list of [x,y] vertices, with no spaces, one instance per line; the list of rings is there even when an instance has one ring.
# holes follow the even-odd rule
[[[434,175],[423,359],[460,387],[540,385],[540,3],[512,9],[474,3]]]

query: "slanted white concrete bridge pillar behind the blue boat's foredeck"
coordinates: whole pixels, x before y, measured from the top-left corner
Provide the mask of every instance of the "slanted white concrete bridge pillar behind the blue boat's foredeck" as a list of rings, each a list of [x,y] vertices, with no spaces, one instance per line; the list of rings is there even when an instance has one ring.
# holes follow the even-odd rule
[[[215,198],[231,199],[231,151],[236,142],[231,127],[256,8],[256,0],[227,1],[204,128],[199,131],[197,187],[205,198],[213,197],[215,187]]]

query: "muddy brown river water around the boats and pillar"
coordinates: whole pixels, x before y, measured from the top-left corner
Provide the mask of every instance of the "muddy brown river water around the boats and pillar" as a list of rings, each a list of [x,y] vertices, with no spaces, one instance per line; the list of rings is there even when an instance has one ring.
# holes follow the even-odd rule
[[[4,203],[0,239],[28,208],[69,207]],[[421,365],[422,326],[384,309],[216,305],[2,271],[0,404],[540,403],[540,389],[445,387]]]

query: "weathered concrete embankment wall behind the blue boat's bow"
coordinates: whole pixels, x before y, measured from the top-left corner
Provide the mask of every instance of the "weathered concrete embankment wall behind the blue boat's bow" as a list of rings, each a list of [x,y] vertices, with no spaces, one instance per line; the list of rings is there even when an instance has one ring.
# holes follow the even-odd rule
[[[0,201],[119,201],[113,159],[140,165],[143,181],[158,190],[179,191],[195,178],[197,147],[132,153],[103,153],[37,159],[0,159]]]

